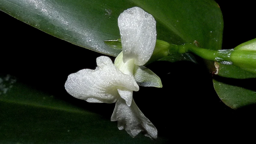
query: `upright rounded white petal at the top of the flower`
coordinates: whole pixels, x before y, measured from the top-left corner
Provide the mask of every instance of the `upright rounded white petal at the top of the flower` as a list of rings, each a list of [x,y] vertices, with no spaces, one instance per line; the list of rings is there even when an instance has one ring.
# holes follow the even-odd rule
[[[144,65],[151,57],[156,43],[156,21],[139,7],[124,10],[118,17],[123,62],[134,59],[134,64]]]

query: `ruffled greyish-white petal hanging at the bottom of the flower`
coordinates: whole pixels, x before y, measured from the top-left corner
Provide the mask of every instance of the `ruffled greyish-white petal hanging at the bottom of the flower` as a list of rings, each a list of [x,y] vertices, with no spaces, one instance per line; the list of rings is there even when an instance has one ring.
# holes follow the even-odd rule
[[[157,138],[157,129],[139,110],[134,100],[132,100],[129,107],[122,98],[119,98],[111,116],[111,121],[118,121],[118,128],[120,130],[125,129],[132,137],[144,131],[145,136]]]

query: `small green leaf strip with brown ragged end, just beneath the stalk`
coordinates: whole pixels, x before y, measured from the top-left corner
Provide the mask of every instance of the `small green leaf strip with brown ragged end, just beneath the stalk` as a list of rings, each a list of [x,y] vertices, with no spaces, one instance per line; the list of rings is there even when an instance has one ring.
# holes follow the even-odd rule
[[[233,64],[229,65],[229,64],[221,64],[221,63],[215,62],[214,65],[217,70],[215,74],[218,76],[234,78],[234,79],[256,78],[255,73],[251,73]]]

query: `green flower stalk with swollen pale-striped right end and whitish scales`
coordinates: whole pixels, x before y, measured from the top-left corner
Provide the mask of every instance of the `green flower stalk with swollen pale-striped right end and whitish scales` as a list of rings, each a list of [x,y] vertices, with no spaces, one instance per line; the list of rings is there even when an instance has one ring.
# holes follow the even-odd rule
[[[210,50],[195,44],[170,44],[169,53],[194,53],[201,58],[217,61],[221,64],[233,64],[256,73],[256,39],[247,41],[234,49]]]

